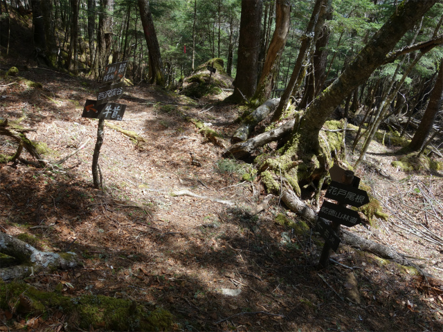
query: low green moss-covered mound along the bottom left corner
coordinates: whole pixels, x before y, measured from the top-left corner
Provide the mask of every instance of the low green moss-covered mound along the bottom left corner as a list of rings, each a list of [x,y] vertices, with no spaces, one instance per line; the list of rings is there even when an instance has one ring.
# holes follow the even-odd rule
[[[17,282],[0,281],[0,308],[22,315],[46,316],[61,311],[67,315],[68,325],[85,330],[168,331],[172,326],[172,315],[163,308],[103,295],[67,297]]]

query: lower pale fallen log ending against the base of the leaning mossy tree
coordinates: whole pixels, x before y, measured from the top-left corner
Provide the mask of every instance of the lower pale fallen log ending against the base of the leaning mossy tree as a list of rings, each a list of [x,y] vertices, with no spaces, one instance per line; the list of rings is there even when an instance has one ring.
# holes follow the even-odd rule
[[[285,124],[282,124],[280,127],[272,129],[270,131],[266,131],[265,133],[260,133],[253,138],[250,138],[244,142],[238,142],[226,149],[224,151],[224,157],[234,157],[237,159],[242,159],[248,156],[251,156],[257,147],[262,147],[263,145],[273,142],[275,140],[280,140],[286,135],[291,133],[293,124],[295,120],[289,120]]]

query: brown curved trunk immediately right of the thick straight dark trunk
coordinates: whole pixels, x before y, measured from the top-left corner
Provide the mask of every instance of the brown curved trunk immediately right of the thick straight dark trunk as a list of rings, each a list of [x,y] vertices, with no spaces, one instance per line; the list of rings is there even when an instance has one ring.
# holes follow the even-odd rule
[[[264,61],[262,74],[258,82],[257,90],[253,97],[253,104],[260,105],[271,96],[272,85],[278,73],[280,57],[286,44],[289,32],[289,18],[291,5],[289,0],[277,0],[275,3],[275,30],[271,44]]]

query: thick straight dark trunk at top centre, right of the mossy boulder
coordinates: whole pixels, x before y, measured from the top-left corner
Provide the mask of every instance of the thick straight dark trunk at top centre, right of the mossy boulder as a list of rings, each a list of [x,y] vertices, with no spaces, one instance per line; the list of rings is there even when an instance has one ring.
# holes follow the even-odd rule
[[[228,97],[228,100],[232,102],[241,102],[244,98],[249,99],[255,93],[262,6],[262,0],[242,0],[235,89],[233,95]]]

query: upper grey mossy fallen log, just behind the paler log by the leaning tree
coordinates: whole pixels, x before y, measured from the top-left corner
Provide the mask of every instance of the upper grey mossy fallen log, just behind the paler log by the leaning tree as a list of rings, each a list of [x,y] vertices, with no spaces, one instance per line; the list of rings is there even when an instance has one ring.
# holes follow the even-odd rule
[[[264,104],[260,105],[253,111],[251,114],[246,116],[243,120],[242,124],[237,128],[233,137],[230,139],[231,143],[242,142],[243,140],[247,140],[251,135],[254,127],[262,120],[264,120],[271,112],[275,110],[275,107],[278,106],[280,102],[280,98],[269,99],[264,102]]]

